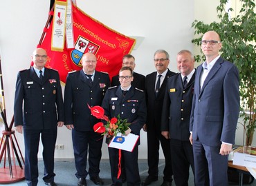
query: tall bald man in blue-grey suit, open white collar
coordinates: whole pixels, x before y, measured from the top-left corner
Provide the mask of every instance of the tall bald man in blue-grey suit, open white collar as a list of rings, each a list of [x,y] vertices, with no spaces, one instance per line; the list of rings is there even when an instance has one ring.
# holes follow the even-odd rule
[[[228,185],[228,154],[235,143],[239,116],[239,74],[219,56],[219,34],[203,34],[206,61],[196,70],[190,116],[196,185]]]

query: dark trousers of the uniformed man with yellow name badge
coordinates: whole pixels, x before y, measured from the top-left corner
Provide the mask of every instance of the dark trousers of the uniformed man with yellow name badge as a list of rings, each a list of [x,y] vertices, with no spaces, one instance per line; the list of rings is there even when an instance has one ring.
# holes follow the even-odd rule
[[[190,141],[170,140],[172,154],[172,170],[176,186],[188,186],[190,165],[194,174],[194,156]]]

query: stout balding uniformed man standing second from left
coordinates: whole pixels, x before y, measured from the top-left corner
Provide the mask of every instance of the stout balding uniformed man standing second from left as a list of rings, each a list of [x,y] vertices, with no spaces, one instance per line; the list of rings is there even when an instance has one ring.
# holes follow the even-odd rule
[[[66,78],[64,92],[65,125],[72,130],[77,185],[86,185],[86,176],[96,185],[103,185],[100,173],[102,136],[93,132],[93,125],[100,120],[91,115],[89,106],[101,105],[110,85],[109,74],[95,71],[97,59],[94,54],[82,56],[82,70],[71,72]],[[87,105],[88,104],[88,105]],[[86,171],[89,152],[89,171]]]

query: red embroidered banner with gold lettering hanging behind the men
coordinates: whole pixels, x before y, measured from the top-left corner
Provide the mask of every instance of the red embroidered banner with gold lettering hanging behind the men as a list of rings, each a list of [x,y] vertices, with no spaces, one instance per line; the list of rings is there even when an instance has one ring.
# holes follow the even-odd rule
[[[66,75],[73,70],[81,70],[82,54],[95,54],[98,63],[96,70],[108,72],[110,78],[118,74],[122,66],[122,56],[129,54],[135,45],[135,39],[126,37],[103,23],[72,6],[73,34],[75,48],[63,52],[51,50],[51,32],[53,21],[46,32],[41,46],[48,54],[46,67],[59,71],[60,80],[66,83]]]

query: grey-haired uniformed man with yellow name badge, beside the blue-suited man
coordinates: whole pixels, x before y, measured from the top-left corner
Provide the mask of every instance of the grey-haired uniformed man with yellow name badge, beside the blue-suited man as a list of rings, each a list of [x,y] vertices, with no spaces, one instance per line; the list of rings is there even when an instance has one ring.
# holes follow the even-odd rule
[[[188,186],[194,156],[190,143],[190,113],[194,94],[194,56],[188,50],[177,54],[179,74],[167,80],[161,122],[162,135],[170,138],[172,170],[176,186]]]

